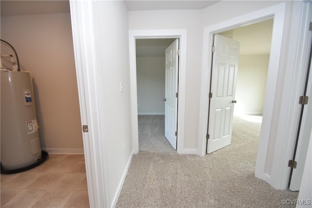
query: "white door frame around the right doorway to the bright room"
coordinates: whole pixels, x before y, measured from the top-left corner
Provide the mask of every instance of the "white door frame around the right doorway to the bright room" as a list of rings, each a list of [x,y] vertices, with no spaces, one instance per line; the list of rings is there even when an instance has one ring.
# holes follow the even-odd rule
[[[200,118],[199,118],[199,147],[201,147],[202,155],[205,154],[205,144],[206,144],[206,134],[207,134],[207,121],[208,121],[208,93],[209,92],[209,84],[205,77],[210,78],[211,74],[208,70],[210,68],[210,64],[212,58],[210,55],[210,49],[212,48],[212,38],[213,34],[226,31],[238,26],[248,25],[251,23],[267,20],[274,18],[273,24],[273,32],[272,32],[272,47],[271,47],[271,57],[269,62],[269,70],[268,70],[268,80],[266,86],[266,96],[265,96],[265,104],[264,104],[264,112],[262,125],[261,125],[261,134],[260,134],[260,142],[258,146],[258,155],[257,155],[257,162],[256,162],[256,169],[255,169],[255,176],[260,178],[264,181],[267,181],[275,188],[281,188],[281,185],[277,182],[278,180],[285,180],[283,178],[283,173],[279,169],[273,168],[269,171],[273,174],[273,172],[280,175],[282,179],[274,179],[270,177],[268,174],[268,166],[273,167],[273,160],[267,161],[268,157],[267,154],[273,154],[274,146],[272,148],[268,148],[269,144],[269,137],[271,133],[271,127],[273,124],[273,106],[274,106],[274,98],[275,90],[277,85],[277,78],[278,78],[278,69],[280,68],[280,56],[281,56],[281,46],[283,37],[283,25],[284,25],[284,14],[285,14],[285,4],[278,4],[263,10],[259,10],[254,13],[250,13],[241,17],[238,17],[234,20],[228,20],[219,22],[217,24],[208,26],[204,28],[204,50],[203,50],[203,67],[202,67],[202,84],[201,84],[201,106],[200,106]],[[275,23],[278,22],[278,23]],[[274,54],[274,57],[272,56]],[[209,80],[209,79],[208,79]],[[275,138],[276,139],[276,138]],[[274,140],[274,139],[273,139]],[[279,139],[278,139],[279,140]],[[273,141],[270,140],[272,143]],[[279,142],[279,141],[278,141]],[[284,141],[285,142],[285,141]],[[260,154],[259,154],[260,152]],[[286,151],[284,152],[286,154]],[[272,156],[272,155],[270,155]],[[272,156],[273,157],[273,156]],[[286,171],[286,168],[285,168]],[[276,185],[276,186],[275,186]]]

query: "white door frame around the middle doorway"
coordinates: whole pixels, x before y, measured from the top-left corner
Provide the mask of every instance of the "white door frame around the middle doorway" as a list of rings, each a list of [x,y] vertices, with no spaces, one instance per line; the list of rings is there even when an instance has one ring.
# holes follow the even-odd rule
[[[136,39],[178,38],[179,39],[179,72],[178,72],[178,111],[177,111],[177,146],[179,154],[194,154],[194,150],[184,149],[184,117],[185,117],[185,82],[186,82],[186,52],[187,29],[168,30],[129,30],[130,56],[130,93],[132,116],[132,141],[134,153],[138,153],[138,124],[137,124],[137,65]]]

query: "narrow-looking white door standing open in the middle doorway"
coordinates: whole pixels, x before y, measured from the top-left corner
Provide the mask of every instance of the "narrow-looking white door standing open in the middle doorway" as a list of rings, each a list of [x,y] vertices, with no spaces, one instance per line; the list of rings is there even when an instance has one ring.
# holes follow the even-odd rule
[[[179,40],[176,39],[166,49],[166,78],[165,78],[165,137],[176,149],[177,131],[177,79],[178,79],[178,55]]]

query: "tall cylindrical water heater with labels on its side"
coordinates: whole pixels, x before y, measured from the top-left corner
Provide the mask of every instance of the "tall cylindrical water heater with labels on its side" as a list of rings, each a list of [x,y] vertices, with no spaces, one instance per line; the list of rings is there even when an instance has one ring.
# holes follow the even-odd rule
[[[1,69],[1,172],[30,169],[42,155],[31,74]]]

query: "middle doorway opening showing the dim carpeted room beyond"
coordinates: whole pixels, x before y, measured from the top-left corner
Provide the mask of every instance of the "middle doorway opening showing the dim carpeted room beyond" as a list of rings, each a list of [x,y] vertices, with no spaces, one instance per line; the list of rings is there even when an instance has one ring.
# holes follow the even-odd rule
[[[139,150],[175,152],[165,135],[166,49],[176,39],[136,39]],[[173,122],[176,126],[176,123]]]

